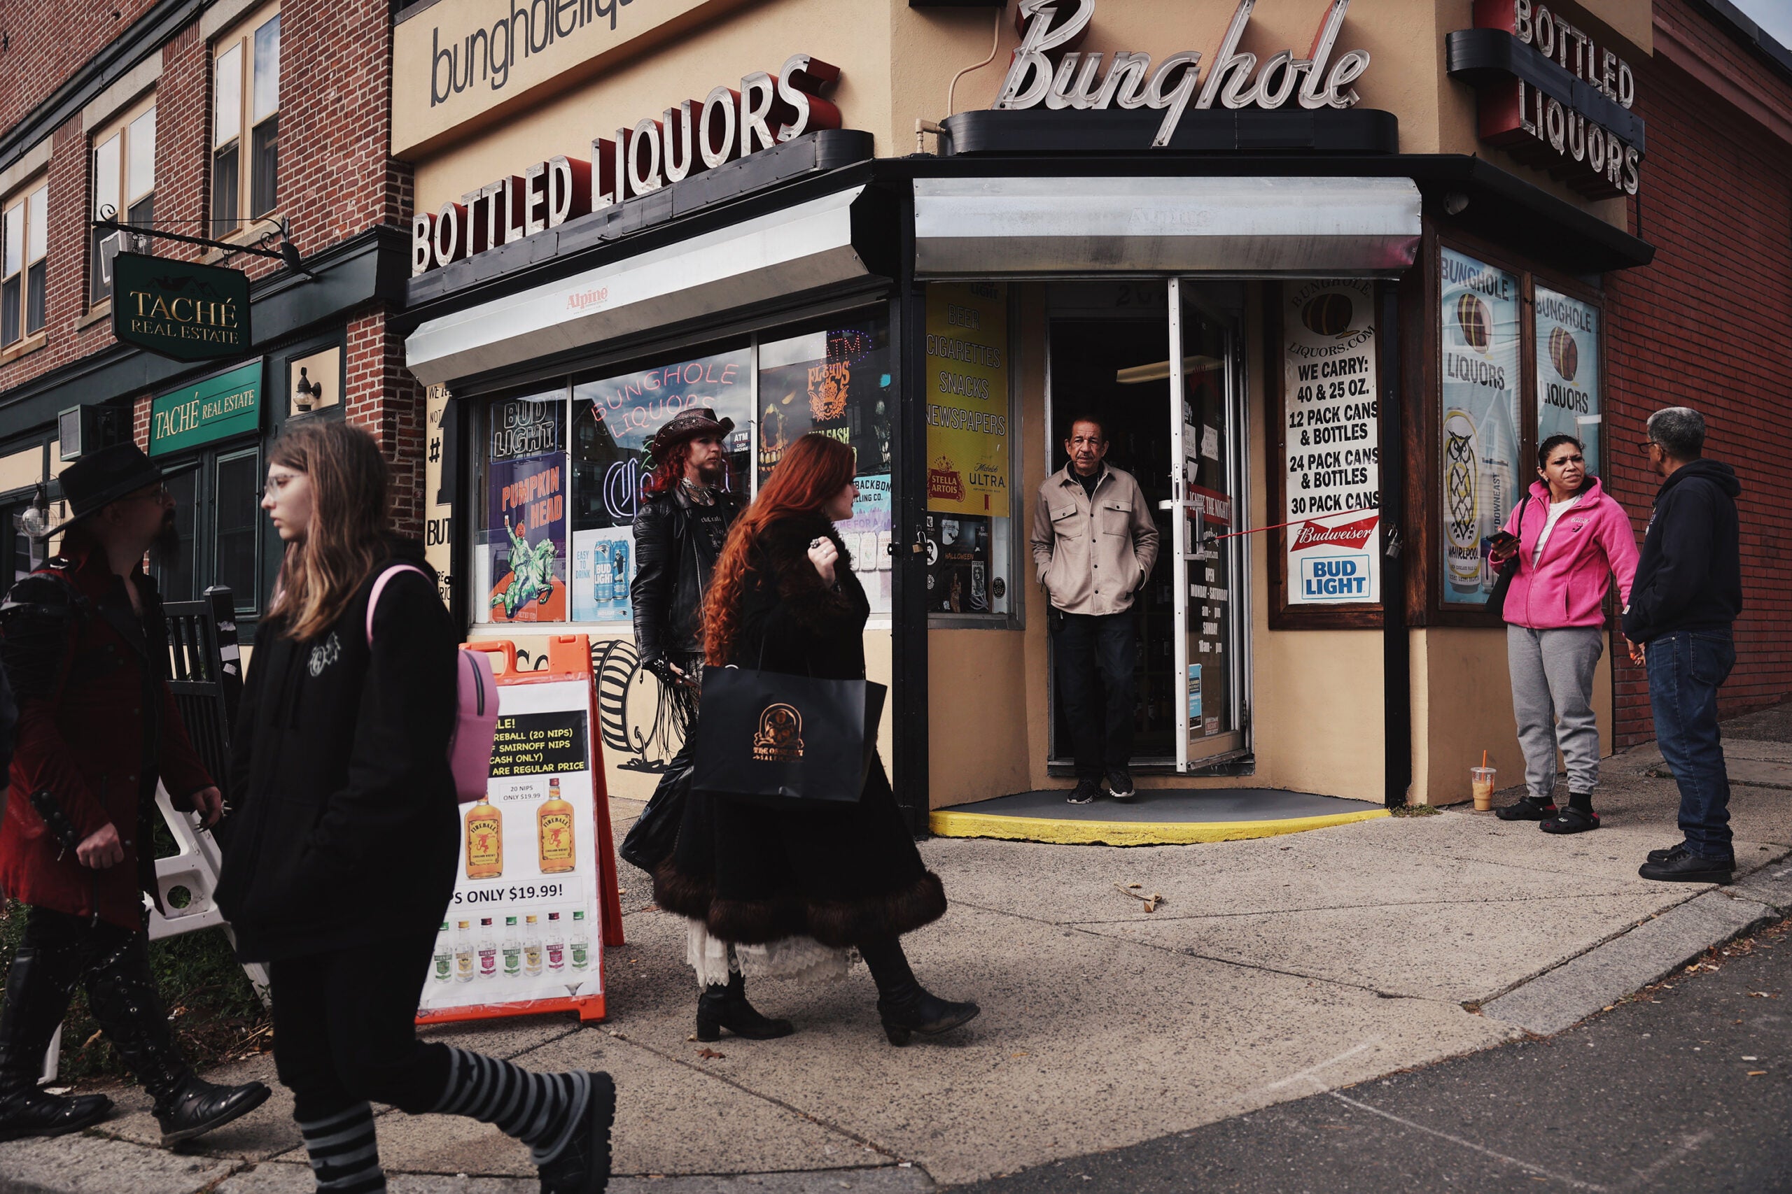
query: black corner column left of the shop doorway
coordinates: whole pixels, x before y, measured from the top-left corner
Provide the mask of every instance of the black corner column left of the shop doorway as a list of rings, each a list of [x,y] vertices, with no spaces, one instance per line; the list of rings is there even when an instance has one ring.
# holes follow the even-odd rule
[[[896,347],[896,433],[891,437],[891,729],[896,806],[918,838],[926,834],[926,292],[914,279],[914,197],[898,206],[901,242],[891,299]]]

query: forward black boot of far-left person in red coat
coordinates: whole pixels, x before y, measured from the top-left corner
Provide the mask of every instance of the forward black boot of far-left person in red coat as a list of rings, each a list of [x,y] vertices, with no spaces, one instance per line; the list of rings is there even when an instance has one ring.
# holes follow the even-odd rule
[[[161,1142],[170,1146],[247,1115],[271,1092],[258,1081],[219,1087],[188,1069],[156,995],[147,940],[142,933],[134,934],[88,974],[88,1008],[106,1029],[113,1049],[156,1101]]]

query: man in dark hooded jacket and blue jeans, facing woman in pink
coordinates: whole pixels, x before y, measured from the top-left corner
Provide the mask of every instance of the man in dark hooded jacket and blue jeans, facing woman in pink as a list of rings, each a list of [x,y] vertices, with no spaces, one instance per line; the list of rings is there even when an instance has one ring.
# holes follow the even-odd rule
[[[1717,689],[1736,662],[1731,623],[1742,612],[1736,471],[1704,458],[1704,417],[1688,406],[1649,415],[1649,467],[1661,478],[1643,555],[1624,610],[1633,657],[1649,666],[1649,705],[1661,757],[1681,789],[1686,840],[1650,850],[1638,870],[1668,883],[1729,883],[1729,775],[1717,730]]]

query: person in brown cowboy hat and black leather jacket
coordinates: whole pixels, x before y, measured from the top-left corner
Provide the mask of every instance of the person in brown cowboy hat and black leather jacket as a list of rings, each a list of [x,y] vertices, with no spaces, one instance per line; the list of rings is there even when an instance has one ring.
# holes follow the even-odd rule
[[[685,714],[685,745],[667,764],[636,829],[622,843],[622,857],[652,874],[672,852],[672,840],[690,791],[692,729],[697,691],[702,684],[702,596],[710,573],[722,555],[728,528],[745,507],[728,487],[728,433],[733,419],[717,419],[708,406],[692,406],[672,419],[647,444],[652,473],[645,499],[634,514],[634,646],[642,666]],[[737,1036],[765,1040],[787,1036],[790,1020],[771,1020],[747,1002],[745,979],[731,970],[726,983],[704,986],[697,1006],[699,1036],[715,1040],[706,1026],[728,1028]]]

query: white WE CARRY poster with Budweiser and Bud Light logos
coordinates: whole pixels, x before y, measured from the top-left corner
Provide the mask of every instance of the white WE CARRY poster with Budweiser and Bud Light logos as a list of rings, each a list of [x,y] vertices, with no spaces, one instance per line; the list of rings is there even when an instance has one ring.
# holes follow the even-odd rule
[[[1288,605],[1382,600],[1374,283],[1285,283],[1283,492]]]

